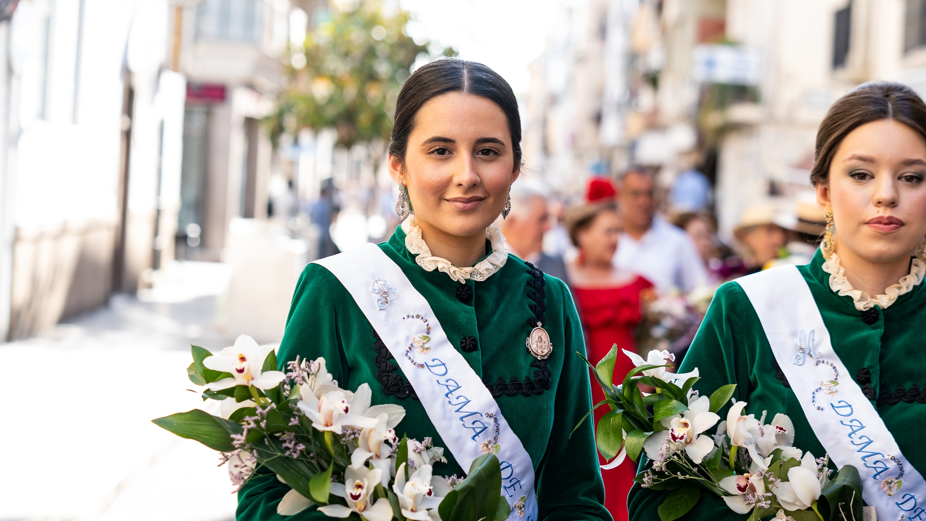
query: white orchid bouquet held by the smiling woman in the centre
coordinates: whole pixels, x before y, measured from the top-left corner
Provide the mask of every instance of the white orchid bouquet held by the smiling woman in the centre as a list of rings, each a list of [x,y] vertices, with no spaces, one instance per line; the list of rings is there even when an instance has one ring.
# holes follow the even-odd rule
[[[294,515],[309,506],[330,517],[367,521],[506,519],[501,470],[494,454],[470,466],[465,479],[433,473],[446,463],[432,440],[399,440],[399,405],[371,405],[369,384],[338,387],[325,359],[300,360],[277,370],[272,347],[242,335],[219,354],[192,346],[187,374],[219,401],[219,416],[194,409],[152,420],[221,453],[240,490],[258,475],[291,487],[277,507]]]

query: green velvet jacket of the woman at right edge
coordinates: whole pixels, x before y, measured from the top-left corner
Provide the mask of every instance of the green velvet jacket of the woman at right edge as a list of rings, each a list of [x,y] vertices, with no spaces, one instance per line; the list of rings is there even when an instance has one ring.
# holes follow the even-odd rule
[[[926,347],[926,329],[922,327],[926,324],[926,284],[915,286],[887,309],[875,306],[877,320],[866,324],[850,297],[830,290],[830,274],[822,265],[823,255],[818,250],[810,264],[798,269],[830,331],[832,348],[872,399],[907,460],[924,472],[926,452],[920,447],[919,426],[926,418],[926,394],[920,394],[920,386],[926,384],[926,358],[922,355]],[[795,393],[785,386],[786,379],[775,366],[756,311],[735,281],[720,286],[679,370],[694,367],[701,377],[694,388],[702,395],[735,383],[733,397],[748,403],[746,414],[758,417],[768,411],[772,417],[784,413],[795,424],[795,447],[817,457],[826,452]],[[720,410],[721,418],[729,408],[728,404]],[[628,498],[630,518],[658,521],[657,508],[665,493],[634,484]],[[705,492],[694,509],[680,519],[740,521],[747,517],[733,513],[719,497]]]

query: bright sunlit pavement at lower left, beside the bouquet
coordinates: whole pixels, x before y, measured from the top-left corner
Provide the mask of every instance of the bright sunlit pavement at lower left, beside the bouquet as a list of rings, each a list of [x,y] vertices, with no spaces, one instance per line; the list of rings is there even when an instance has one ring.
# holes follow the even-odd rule
[[[234,518],[218,453],[150,421],[204,406],[185,391],[191,342],[233,341],[214,329],[216,297],[204,293],[117,295],[38,338],[0,344],[0,521]]]

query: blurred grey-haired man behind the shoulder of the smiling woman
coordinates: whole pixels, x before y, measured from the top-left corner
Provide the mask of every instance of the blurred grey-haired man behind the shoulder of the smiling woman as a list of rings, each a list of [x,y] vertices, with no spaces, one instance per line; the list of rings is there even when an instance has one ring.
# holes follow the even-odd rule
[[[569,285],[563,259],[544,254],[544,233],[550,229],[550,216],[543,192],[526,186],[512,187],[511,213],[502,221],[501,229],[508,252]]]

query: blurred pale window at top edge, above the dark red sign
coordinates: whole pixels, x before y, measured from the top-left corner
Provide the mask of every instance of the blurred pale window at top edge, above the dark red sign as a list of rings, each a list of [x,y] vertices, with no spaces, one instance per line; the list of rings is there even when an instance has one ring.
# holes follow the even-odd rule
[[[196,12],[197,40],[261,43],[265,0],[205,0]]]

